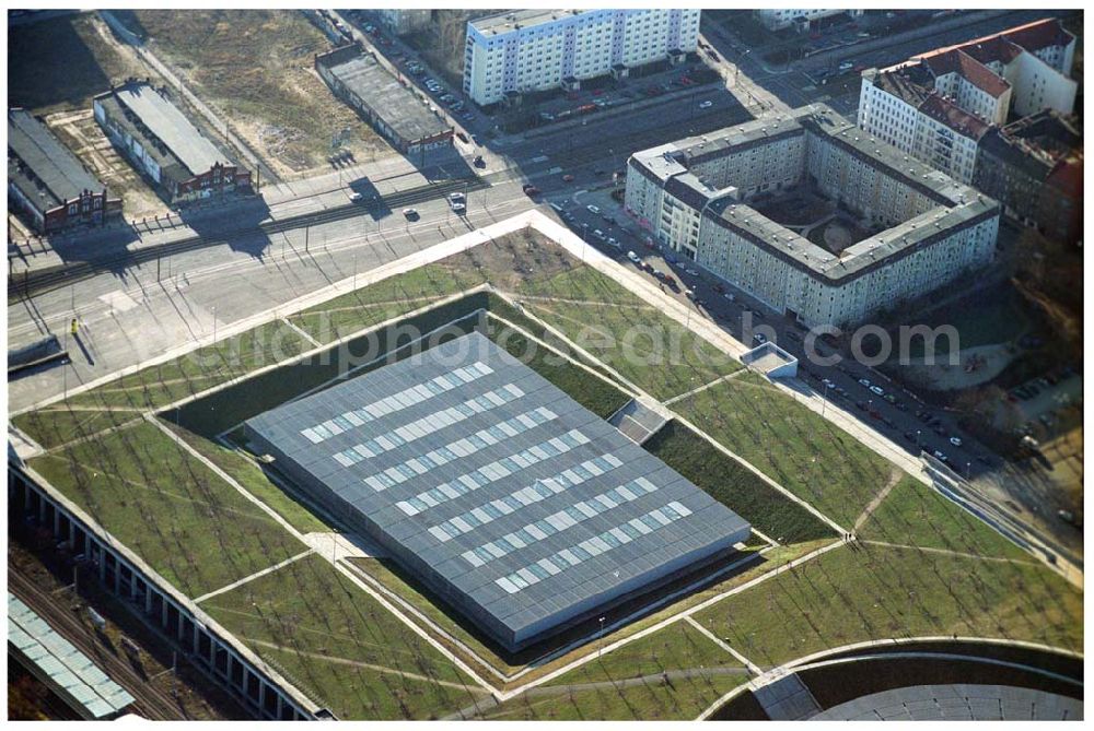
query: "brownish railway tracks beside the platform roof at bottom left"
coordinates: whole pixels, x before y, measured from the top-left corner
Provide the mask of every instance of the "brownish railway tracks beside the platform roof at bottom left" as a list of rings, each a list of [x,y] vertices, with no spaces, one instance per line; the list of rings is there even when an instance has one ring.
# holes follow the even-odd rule
[[[49,626],[65,636],[65,639],[94,660],[110,680],[128,691],[136,698],[130,712],[156,721],[186,720],[170,693],[142,677],[129,664],[124,652],[113,656],[102,651],[102,646],[90,636],[88,628],[68,610],[67,602],[58,602],[56,597],[35,586],[11,564],[8,568],[8,590],[46,620]]]

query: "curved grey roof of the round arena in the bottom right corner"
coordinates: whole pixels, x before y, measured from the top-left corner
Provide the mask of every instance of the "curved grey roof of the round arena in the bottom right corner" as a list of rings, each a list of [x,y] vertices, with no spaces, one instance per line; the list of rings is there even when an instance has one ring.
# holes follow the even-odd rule
[[[912,685],[834,706],[811,721],[1074,721],[1078,698],[1010,685]]]

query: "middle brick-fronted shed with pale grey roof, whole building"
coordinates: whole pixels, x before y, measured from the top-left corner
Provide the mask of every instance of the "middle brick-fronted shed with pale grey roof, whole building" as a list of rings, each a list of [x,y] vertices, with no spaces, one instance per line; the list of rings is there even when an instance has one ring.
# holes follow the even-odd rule
[[[166,89],[130,80],[96,96],[94,111],[110,142],[167,202],[251,190],[251,172],[205,137]]]

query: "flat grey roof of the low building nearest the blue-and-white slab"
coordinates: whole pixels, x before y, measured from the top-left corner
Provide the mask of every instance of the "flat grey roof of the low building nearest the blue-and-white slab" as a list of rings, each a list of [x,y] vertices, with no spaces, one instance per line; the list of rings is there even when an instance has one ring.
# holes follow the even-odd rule
[[[361,52],[359,47],[335,49],[325,57],[321,56],[318,62],[363,99],[403,140],[414,142],[452,129],[375,57]]]

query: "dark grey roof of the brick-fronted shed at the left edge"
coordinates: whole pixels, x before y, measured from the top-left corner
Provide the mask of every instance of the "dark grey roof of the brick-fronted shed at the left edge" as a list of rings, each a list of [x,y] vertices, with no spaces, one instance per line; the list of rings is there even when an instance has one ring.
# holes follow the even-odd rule
[[[8,111],[8,148],[18,158],[8,161],[9,180],[43,211],[79,198],[84,190],[103,190],[103,184],[25,109]]]

